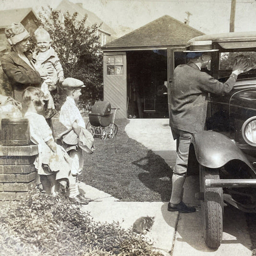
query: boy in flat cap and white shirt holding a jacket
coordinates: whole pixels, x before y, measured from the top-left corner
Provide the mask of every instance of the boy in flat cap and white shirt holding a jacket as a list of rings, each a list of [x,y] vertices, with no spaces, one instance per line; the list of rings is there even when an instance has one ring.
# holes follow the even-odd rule
[[[81,88],[85,87],[84,83],[78,79],[68,77],[62,82],[62,87],[66,92],[67,98],[65,103],[61,107],[60,111],[60,122],[67,128],[67,131],[62,133],[62,143],[63,147],[66,149],[70,157],[72,158],[72,174],[81,174],[84,166],[84,154],[81,145],[86,144],[87,153],[91,154],[94,152],[94,139],[89,133],[86,134],[86,138],[82,139],[86,143],[82,144],[81,135],[87,132],[85,129],[85,121],[76,106],[81,93]],[[82,149],[83,148],[83,149]]]

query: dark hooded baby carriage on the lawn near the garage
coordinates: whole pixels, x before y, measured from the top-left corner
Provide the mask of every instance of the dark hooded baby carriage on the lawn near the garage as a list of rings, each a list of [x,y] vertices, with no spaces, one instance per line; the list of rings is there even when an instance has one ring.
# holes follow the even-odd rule
[[[114,110],[114,113],[111,113]],[[114,123],[116,108],[111,109],[108,101],[98,101],[89,113],[89,122],[86,124],[86,129],[91,132],[94,137],[100,137],[105,140],[107,137],[114,138],[117,134],[118,127]]]

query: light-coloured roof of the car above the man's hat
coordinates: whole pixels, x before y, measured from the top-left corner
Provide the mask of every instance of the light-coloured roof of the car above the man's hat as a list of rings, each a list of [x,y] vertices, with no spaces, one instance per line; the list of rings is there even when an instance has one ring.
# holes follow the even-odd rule
[[[229,32],[194,37],[188,41],[187,45],[193,41],[206,40],[211,40],[213,43],[217,42],[224,49],[256,48],[256,31]]]

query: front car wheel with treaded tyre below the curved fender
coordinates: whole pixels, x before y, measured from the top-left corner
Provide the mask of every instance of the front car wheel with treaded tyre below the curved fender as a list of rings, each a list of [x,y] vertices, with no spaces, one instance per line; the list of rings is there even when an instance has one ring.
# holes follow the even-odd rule
[[[204,194],[204,200],[201,201],[201,212],[203,221],[203,232],[205,243],[210,248],[218,248],[222,240],[222,188],[207,188],[206,179],[219,179],[219,169],[211,169],[199,166],[200,192]]]

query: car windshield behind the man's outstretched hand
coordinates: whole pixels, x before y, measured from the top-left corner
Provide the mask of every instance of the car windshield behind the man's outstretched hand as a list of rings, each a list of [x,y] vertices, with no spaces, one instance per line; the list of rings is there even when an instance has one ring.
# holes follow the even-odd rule
[[[246,73],[256,73],[256,52],[221,52],[219,55],[219,78],[229,76],[232,72],[232,65],[234,61],[240,58],[247,59],[249,61],[251,70]]]

